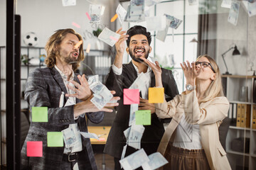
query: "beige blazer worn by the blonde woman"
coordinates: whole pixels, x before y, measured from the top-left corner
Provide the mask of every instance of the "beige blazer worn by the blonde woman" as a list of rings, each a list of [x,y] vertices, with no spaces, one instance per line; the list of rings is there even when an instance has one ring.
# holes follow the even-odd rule
[[[165,154],[169,142],[174,139],[175,130],[185,113],[186,120],[198,124],[201,132],[201,145],[206,152],[210,169],[231,169],[226,152],[220,144],[218,127],[228,115],[229,102],[225,97],[216,97],[198,104],[196,90],[189,94],[177,95],[168,103],[156,103],[156,115],[159,118],[172,118],[161,139],[158,152]]]

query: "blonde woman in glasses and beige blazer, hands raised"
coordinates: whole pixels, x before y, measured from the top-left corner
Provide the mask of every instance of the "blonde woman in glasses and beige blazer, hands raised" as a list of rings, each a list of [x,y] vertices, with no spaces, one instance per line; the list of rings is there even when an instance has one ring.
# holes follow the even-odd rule
[[[162,87],[159,63],[142,60],[153,69],[156,87]],[[183,62],[181,68],[186,91],[169,102],[155,104],[159,118],[172,118],[158,148],[169,161],[164,169],[231,169],[218,134],[229,108],[218,65],[202,55],[196,62]]]

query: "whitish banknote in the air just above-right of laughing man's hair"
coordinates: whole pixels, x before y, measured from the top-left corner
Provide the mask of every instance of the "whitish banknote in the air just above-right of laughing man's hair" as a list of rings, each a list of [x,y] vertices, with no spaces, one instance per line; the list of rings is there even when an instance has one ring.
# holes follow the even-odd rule
[[[166,28],[166,16],[146,17],[146,30],[164,30]]]

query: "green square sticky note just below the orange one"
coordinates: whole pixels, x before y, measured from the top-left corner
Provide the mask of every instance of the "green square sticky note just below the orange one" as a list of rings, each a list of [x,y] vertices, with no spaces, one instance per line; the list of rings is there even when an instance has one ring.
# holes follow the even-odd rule
[[[136,125],[151,125],[151,111],[135,111]]]

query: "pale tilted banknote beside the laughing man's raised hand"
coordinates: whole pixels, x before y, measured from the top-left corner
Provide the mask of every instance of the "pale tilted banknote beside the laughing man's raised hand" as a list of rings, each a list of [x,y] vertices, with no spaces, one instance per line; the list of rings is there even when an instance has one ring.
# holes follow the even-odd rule
[[[118,33],[114,33],[108,28],[104,28],[98,38],[113,47],[114,44],[119,40],[120,35]]]

